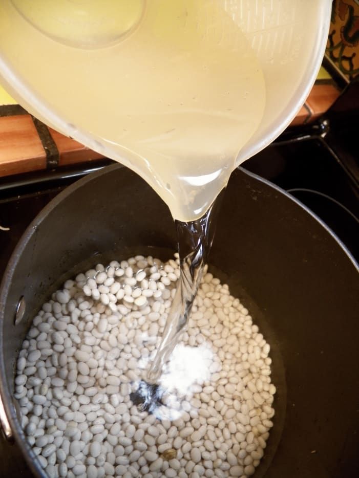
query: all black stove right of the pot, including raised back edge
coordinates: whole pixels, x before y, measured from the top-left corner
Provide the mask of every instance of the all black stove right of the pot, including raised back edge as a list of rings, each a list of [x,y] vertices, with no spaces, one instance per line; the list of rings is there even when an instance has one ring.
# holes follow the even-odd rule
[[[285,132],[244,167],[305,204],[359,262],[359,77],[325,117]]]

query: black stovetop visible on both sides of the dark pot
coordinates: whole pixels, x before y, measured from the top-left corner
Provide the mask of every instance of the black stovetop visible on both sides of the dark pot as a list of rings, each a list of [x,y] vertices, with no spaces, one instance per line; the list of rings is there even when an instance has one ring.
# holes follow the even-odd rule
[[[242,166],[299,199],[339,237],[359,262],[359,81],[325,118],[291,128]],[[28,173],[0,181],[0,270],[26,227],[62,189],[111,160]],[[0,438],[0,476],[30,476],[16,446]],[[14,469],[14,467],[16,469]]]

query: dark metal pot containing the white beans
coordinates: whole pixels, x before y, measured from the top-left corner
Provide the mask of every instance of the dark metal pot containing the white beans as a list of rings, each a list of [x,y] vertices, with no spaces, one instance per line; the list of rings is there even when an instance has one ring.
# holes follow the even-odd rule
[[[170,212],[132,171],[110,166],[60,193],[18,244],[0,293],[3,428],[41,469],[13,406],[18,351],[35,312],[64,279],[100,261],[175,250]],[[236,170],[209,259],[271,344],[276,416],[255,476],[357,476],[358,267],[300,203]],[[23,297],[25,313],[16,307]],[[23,315],[23,318],[22,318]],[[13,476],[24,471],[14,463]],[[1,472],[0,472],[1,475]]]

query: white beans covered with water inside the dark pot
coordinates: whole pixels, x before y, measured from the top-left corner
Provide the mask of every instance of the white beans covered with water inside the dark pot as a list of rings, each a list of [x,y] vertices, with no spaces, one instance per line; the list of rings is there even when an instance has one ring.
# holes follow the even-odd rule
[[[164,405],[148,414],[130,400],[159,345],[178,276],[178,259],[97,265],[66,281],[34,318],[15,397],[50,478],[255,472],[274,415],[269,345],[212,274],[166,367]]]

